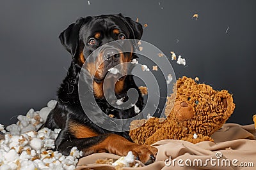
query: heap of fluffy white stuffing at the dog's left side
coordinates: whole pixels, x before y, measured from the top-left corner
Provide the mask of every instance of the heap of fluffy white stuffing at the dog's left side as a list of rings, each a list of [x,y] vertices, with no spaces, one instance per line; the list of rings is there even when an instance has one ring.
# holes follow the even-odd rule
[[[82,152],[72,148],[69,156],[53,151],[54,139],[60,129],[40,129],[47,115],[56,105],[49,101],[40,111],[29,110],[26,116],[19,115],[16,124],[6,129],[0,125],[4,139],[0,141],[0,170],[75,169]]]

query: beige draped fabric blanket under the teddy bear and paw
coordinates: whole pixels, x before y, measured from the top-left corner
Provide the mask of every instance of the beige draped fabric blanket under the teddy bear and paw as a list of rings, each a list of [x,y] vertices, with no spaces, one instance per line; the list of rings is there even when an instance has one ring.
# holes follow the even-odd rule
[[[163,140],[154,143],[158,149],[156,162],[143,167],[125,169],[256,169],[256,132],[254,125],[225,124],[212,135],[214,143],[204,141]],[[95,153],[79,160],[79,169],[115,169],[95,164],[97,159],[118,159],[118,155]],[[170,164],[171,163],[171,164]]]

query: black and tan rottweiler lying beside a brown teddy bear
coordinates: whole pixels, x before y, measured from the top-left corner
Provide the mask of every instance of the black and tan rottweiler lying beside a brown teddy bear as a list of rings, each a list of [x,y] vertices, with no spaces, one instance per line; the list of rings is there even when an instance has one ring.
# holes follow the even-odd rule
[[[71,148],[76,146],[78,150],[83,151],[83,156],[99,152],[124,156],[132,151],[136,159],[141,160],[144,164],[154,162],[157,153],[156,148],[133,143],[128,132],[108,131],[94,124],[84,113],[78,94],[79,74],[84,62],[87,62],[86,58],[94,50],[118,39],[141,39],[142,34],[142,25],[122,14],[79,18],[61,32],[59,36],[61,44],[72,55],[72,62],[67,76],[58,90],[58,103],[42,126],[49,129],[61,129],[55,141],[56,150],[64,155],[69,155]],[[132,52],[136,46],[138,47],[137,43],[131,45]],[[105,49],[93,58],[93,62],[86,63],[85,69],[94,76],[92,87],[95,101],[106,115],[113,115],[115,118],[122,119],[131,118],[138,114],[135,113],[134,106],[127,110],[113,108],[106,101],[102,89],[104,77],[109,68],[120,63],[130,62],[138,57],[132,52],[119,52],[112,55],[114,52],[111,51],[111,48]],[[108,59],[99,62],[102,61],[102,56],[108,56]],[[127,91],[131,88],[138,91],[139,97],[136,106],[142,110],[143,97],[141,97],[140,90],[132,75],[128,74],[116,81],[115,96],[117,99],[127,97]],[[94,114],[93,110],[87,109],[92,112],[90,114]],[[95,115],[97,114],[95,113]]]

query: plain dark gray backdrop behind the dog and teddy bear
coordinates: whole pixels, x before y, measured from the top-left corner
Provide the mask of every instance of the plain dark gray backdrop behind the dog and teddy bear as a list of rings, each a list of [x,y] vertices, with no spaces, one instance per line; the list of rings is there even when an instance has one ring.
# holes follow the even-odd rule
[[[123,13],[148,24],[144,41],[168,56],[175,51],[186,58],[187,67],[172,62],[177,77],[198,76],[214,89],[234,94],[236,110],[228,122],[251,124],[256,94],[255,6],[253,0],[90,0],[90,5],[69,0],[1,1],[0,123],[16,122],[17,115],[29,108],[39,110],[56,99],[71,60],[58,39],[67,25],[88,15]],[[192,18],[194,13],[198,20]]]

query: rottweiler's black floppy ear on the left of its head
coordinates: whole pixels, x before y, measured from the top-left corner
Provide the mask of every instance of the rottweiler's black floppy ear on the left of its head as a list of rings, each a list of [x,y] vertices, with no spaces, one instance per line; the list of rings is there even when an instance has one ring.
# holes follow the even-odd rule
[[[75,57],[79,49],[79,32],[86,18],[79,18],[75,23],[70,24],[67,29],[60,33],[61,44]]]

